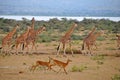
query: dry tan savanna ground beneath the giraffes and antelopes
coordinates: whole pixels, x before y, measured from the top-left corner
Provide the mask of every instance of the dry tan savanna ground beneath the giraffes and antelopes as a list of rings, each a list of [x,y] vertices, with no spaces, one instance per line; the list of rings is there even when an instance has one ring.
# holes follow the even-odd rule
[[[115,39],[106,38],[97,41],[98,49],[94,50],[94,56],[79,54],[82,41],[73,41],[73,50],[77,54],[74,57],[56,57],[58,42],[39,43],[37,54],[3,55],[0,54],[0,80],[120,80],[120,50]],[[41,53],[41,54],[38,54]],[[62,54],[62,53],[61,53]],[[72,62],[66,67],[68,74],[62,70],[56,73],[40,67],[34,72],[29,68],[35,61],[48,61],[48,56],[66,62],[69,58]],[[58,67],[53,67],[56,71]]]

